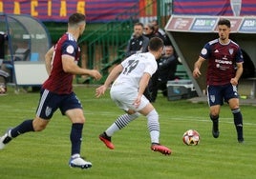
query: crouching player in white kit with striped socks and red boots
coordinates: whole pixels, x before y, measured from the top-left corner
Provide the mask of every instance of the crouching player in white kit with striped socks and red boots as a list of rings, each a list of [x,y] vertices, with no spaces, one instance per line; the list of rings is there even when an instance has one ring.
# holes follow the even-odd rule
[[[126,112],[117,117],[117,120],[99,135],[99,139],[107,148],[115,149],[111,142],[114,132],[126,127],[142,114],[147,118],[151,149],[162,154],[171,154],[171,149],[160,145],[159,114],[143,95],[149,79],[158,68],[156,59],[160,59],[163,50],[162,40],[159,37],[150,39],[148,50],[149,52],[126,58],[110,72],[104,85],[96,89],[96,97],[99,97],[115,81],[110,91],[111,98],[118,108]]]

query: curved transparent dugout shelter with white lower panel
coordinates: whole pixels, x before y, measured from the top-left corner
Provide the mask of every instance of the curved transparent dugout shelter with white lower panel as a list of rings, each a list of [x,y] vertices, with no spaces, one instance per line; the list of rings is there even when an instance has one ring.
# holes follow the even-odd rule
[[[29,15],[0,13],[0,31],[8,34],[2,69],[10,72],[10,84],[41,86],[48,77],[44,55],[51,46],[49,32]]]

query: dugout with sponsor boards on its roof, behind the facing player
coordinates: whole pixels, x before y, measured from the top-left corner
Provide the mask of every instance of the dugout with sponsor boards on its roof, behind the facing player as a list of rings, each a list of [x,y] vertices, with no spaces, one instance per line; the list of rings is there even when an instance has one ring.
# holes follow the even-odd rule
[[[182,65],[192,80],[199,96],[203,96],[206,89],[206,63],[201,68],[203,75],[198,79],[192,76],[194,63],[198,60],[203,46],[207,42],[219,37],[217,24],[220,18],[230,20],[230,39],[237,42],[241,49],[245,51],[245,62],[249,64],[246,69],[244,66],[244,72],[252,70],[252,74],[249,77],[256,80],[256,16],[172,15],[164,28],[175,50],[177,50],[178,55],[181,57]],[[256,90],[256,88],[254,89]]]

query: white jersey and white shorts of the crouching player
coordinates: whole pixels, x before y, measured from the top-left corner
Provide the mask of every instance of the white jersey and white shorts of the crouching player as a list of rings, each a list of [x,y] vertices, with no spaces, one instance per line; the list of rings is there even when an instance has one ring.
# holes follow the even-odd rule
[[[126,58],[121,66],[123,70],[110,90],[111,98],[120,109],[139,111],[149,103],[142,95],[139,107],[134,105],[138,97],[139,81],[145,72],[152,76],[158,69],[155,56],[149,52],[137,53]]]

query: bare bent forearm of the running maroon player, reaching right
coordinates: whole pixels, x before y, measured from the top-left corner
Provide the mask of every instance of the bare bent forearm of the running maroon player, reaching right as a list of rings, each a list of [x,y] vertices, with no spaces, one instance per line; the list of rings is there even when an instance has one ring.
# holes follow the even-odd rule
[[[65,72],[72,74],[90,75],[96,80],[101,78],[101,74],[97,70],[82,69],[75,64],[75,58],[72,55],[62,55],[62,68]]]

